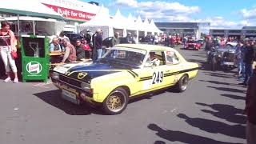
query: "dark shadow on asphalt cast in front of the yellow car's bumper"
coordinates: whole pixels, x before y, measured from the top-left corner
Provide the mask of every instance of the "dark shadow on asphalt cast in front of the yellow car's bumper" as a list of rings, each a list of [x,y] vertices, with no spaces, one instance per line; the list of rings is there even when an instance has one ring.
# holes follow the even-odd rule
[[[71,102],[67,102],[61,97],[60,90],[51,90],[38,94],[34,94],[42,101],[54,106],[60,110],[63,110],[66,114],[70,115],[89,115],[89,114],[103,114],[101,110],[96,110],[86,104],[75,105]]]

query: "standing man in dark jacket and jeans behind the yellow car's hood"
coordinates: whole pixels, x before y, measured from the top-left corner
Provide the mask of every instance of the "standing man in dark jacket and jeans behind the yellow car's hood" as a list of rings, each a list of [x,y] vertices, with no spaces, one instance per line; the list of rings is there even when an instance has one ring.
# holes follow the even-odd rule
[[[93,49],[93,60],[97,60],[98,58],[102,58],[103,50],[102,50],[102,30],[96,30],[93,35],[94,49]]]

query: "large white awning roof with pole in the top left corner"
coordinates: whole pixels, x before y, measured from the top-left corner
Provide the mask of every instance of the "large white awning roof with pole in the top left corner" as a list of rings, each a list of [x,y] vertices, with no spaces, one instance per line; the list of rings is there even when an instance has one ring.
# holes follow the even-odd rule
[[[51,10],[42,3],[34,0],[8,0],[0,5],[0,12],[18,14],[18,35],[19,35],[19,15],[28,15],[42,18],[63,19],[62,15]],[[34,31],[35,32],[35,31]],[[35,33],[34,33],[35,34]]]

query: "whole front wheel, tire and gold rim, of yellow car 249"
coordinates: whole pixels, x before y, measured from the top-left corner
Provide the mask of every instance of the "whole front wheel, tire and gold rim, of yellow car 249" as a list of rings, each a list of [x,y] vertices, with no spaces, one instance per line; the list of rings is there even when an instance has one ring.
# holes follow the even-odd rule
[[[128,104],[126,90],[117,88],[113,90],[102,103],[102,109],[106,114],[121,114]]]

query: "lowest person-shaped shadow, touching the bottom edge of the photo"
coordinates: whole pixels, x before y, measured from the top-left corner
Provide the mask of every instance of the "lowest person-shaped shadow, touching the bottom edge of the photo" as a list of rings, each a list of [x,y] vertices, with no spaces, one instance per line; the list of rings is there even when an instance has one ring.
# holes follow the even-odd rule
[[[182,131],[164,130],[156,124],[150,124],[148,126],[150,130],[156,131],[156,134],[160,138],[164,138],[170,142],[182,142],[190,144],[234,144],[230,142],[216,141],[211,138],[206,138],[194,134],[187,134]],[[166,142],[156,141],[154,144],[165,144]]]

